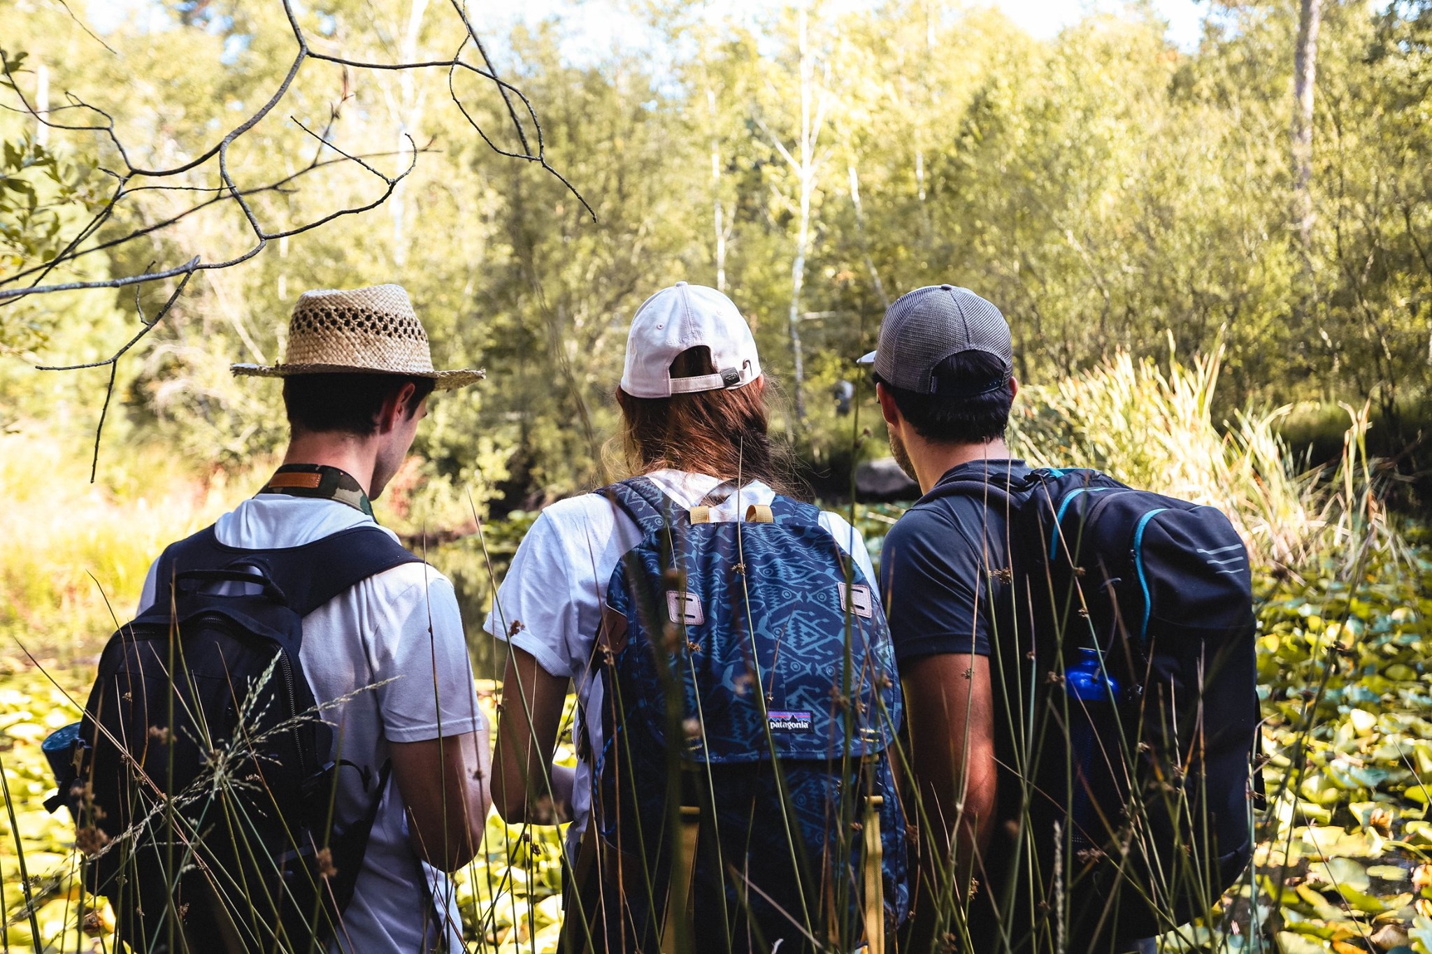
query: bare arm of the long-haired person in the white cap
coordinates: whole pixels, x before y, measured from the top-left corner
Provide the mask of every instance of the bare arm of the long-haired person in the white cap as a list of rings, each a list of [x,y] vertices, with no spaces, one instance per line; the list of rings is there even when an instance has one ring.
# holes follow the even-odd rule
[[[554,825],[571,818],[573,771],[553,765],[567,679],[541,668],[526,649],[507,646],[503,708],[497,717],[493,801],[511,824]]]

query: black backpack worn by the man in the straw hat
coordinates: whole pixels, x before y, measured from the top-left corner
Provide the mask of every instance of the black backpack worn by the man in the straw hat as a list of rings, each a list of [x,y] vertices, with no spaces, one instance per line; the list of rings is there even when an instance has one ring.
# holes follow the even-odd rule
[[[309,951],[339,930],[388,765],[374,784],[342,762],[372,802],[335,831],[339,767],[302,619],[408,562],[377,526],[285,549],[225,546],[211,526],[159,558],[153,606],[110,636],[67,758],[52,758],[86,885],[132,950]]]

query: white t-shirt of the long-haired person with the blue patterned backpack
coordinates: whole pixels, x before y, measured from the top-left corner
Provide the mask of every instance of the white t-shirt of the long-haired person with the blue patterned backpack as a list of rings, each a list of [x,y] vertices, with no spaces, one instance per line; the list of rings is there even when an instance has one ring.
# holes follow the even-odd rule
[[[696,506],[719,483],[705,473],[657,471],[647,475],[680,506]],[[760,482],[748,483],[710,511],[712,522],[745,519],[752,503],[770,503],[775,492]],[[871,581],[875,571],[861,533],[839,513],[822,512],[823,526],[845,554]],[[548,674],[576,681],[577,705],[591,751],[600,752],[601,682],[593,678],[591,646],[601,622],[607,582],[617,561],[642,542],[642,531],[604,496],[584,493],[546,508],[527,531],[513,564],[507,569],[497,599],[487,616],[485,629],[503,641],[530,652]],[[521,624],[520,626],[517,624]],[[516,632],[513,629],[516,628]],[[573,747],[577,727],[573,725]],[[591,769],[577,761],[571,795],[573,825],[567,832],[567,851],[576,858],[581,832],[591,810]]]

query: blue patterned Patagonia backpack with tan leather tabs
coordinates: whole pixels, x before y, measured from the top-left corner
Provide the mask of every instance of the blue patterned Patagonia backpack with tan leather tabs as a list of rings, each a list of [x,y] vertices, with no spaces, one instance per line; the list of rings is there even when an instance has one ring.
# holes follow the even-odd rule
[[[809,503],[710,522],[646,478],[601,493],[642,542],[611,575],[597,639],[601,892],[586,943],[882,950],[909,890],[875,581]]]

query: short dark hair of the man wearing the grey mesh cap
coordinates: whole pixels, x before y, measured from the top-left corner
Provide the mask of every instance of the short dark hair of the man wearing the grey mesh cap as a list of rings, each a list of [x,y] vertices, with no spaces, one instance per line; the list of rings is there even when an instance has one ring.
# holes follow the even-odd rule
[[[879,376],[876,380],[895,399],[895,406],[915,428],[915,433],[925,441],[985,443],[995,438],[1004,438],[1004,432],[1010,426],[1010,406],[1014,403],[1004,362],[987,352],[968,350],[939,362],[935,365],[934,373],[942,385],[951,382],[957,388],[961,385],[978,388],[987,382],[990,385],[1002,382],[1005,386],[975,396],[944,396],[892,388]]]

